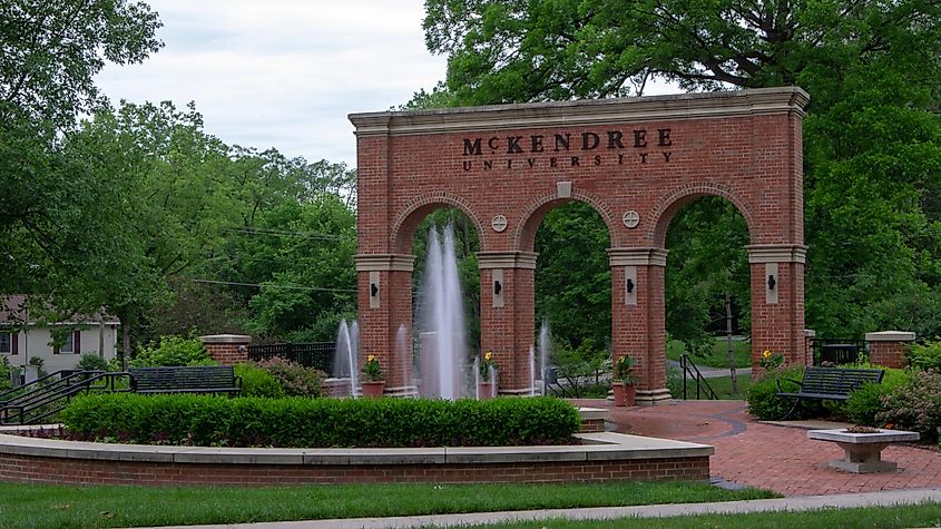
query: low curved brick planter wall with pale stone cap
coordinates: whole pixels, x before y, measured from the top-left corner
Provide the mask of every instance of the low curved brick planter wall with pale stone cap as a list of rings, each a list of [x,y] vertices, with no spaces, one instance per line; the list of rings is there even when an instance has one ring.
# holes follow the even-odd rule
[[[275,449],[106,444],[0,434],[0,481],[264,486],[709,478],[714,452],[709,445],[610,432],[578,437],[584,444]]]

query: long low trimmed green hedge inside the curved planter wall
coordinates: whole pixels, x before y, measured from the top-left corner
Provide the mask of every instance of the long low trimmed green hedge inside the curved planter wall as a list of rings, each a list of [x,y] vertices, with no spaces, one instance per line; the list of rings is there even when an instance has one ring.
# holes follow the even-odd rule
[[[487,447],[566,444],[578,411],[555,398],[223,399],[88,395],[61,412],[79,440],[199,447]]]

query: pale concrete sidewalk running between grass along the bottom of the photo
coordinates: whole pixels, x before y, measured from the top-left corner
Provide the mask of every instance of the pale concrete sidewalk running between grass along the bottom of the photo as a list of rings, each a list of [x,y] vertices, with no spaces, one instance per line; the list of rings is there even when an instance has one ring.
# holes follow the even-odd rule
[[[596,507],[588,509],[547,509],[531,511],[471,512],[467,515],[433,515],[396,518],[352,518],[345,520],[281,521],[265,523],[235,523],[228,526],[186,526],[189,529],[384,529],[420,528],[427,526],[455,527],[506,521],[547,520],[608,520],[612,518],[664,518],[695,515],[739,515],[747,512],[805,511],[827,507],[854,508],[873,506],[913,504],[924,501],[941,502],[941,489],[869,492],[863,494],[777,498],[773,500],[725,501],[717,503],[675,503],[663,506]],[[156,529],[156,528],[155,528]],[[173,529],[173,528],[163,528]]]

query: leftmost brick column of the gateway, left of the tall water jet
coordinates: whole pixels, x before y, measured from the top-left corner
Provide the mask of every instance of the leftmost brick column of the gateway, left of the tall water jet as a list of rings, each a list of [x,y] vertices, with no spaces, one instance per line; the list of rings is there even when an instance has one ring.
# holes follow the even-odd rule
[[[379,359],[385,373],[385,393],[396,396],[418,394],[412,373],[412,270],[414,255],[356,255],[359,284],[359,368],[370,354]],[[409,337],[399,345],[400,327]]]

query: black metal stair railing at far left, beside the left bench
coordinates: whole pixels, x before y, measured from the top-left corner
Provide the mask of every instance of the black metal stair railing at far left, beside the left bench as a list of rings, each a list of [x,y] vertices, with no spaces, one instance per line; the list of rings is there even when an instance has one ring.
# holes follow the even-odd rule
[[[80,393],[129,391],[125,372],[63,370],[0,393],[0,424],[37,424],[68,405]]]

